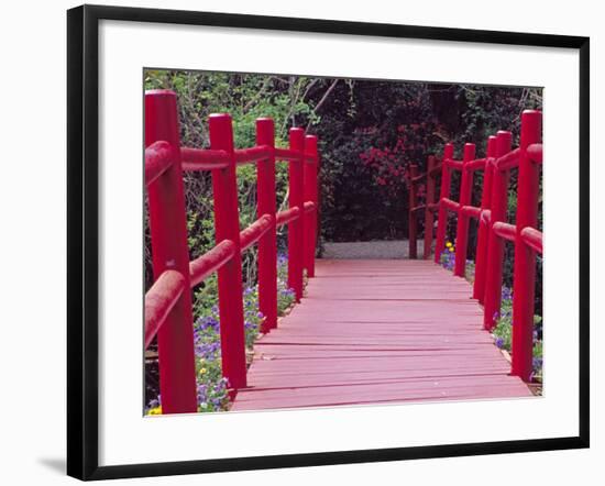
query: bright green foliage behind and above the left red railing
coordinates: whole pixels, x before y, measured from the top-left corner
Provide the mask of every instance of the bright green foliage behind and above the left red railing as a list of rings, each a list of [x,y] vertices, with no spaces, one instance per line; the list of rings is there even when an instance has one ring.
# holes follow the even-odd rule
[[[177,93],[180,140],[184,146],[208,147],[208,117],[228,112],[233,120],[235,147],[255,144],[255,123],[261,117],[273,118],[275,143],[287,146],[290,126],[314,126],[319,122],[315,113],[318,93],[329,82],[307,77],[280,77],[248,74],[154,70],[145,71],[145,89],[172,89]],[[287,203],[288,172],[286,164],[276,167],[276,203]],[[195,258],[215,244],[211,176],[207,173],[187,173],[184,176],[189,229],[189,253]],[[245,228],[256,219],[256,168],[238,167],[240,225]],[[146,211],[145,211],[146,214]],[[280,246],[285,234],[279,233]],[[152,284],[151,241],[145,217],[146,287]],[[243,255],[244,280],[256,281],[256,248]]]

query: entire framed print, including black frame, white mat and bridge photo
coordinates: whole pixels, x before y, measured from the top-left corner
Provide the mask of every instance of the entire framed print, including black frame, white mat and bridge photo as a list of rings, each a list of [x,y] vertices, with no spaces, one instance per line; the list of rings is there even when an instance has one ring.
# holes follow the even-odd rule
[[[588,446],[588,38],[67,18],[69,475]]]

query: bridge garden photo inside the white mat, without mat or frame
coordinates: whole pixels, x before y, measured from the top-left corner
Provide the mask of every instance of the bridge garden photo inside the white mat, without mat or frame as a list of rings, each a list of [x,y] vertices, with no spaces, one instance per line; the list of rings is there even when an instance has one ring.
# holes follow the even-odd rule
[[[542,399],[541,86],[142,77],[144,416]]]

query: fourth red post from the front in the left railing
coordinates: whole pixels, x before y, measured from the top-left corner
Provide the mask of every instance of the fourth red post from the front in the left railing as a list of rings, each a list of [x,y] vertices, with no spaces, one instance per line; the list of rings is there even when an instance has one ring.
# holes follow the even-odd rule
[[[305,130],[300,128],[290,129],[290,150],[300,153],[301,157],[289,162],[289,195],[288,202],[292,208],[299,208],[300,216],[288,225],[288,287],[293,288],[296,301],[302,298],[302,240],[305,234],[304,218],[304,179],[302,179],[302,155],[305,154]]]

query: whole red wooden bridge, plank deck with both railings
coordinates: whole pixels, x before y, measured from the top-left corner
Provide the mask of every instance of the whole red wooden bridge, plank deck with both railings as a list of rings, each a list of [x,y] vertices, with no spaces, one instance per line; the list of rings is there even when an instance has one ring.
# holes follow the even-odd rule
[[[273,121],[260,119],[257,145],[235,150],[231,119],[210,117],[209,150],[182,147],[176,96],[145,96],[145,179],[155,283],[145,296],[145,346],[157,335],[164,413],[197,410],[189,289],[219,275],[223,375],[233,410],[318,407],[531,395],[541,113],[526,111],[519,147],[512,134],[487,141],[486,157],[465,144],[462,159],[446,145],[427,172],[411,167],[410,259],[316,263],[319,154],[317,139],[290,130],[288,148],[274,145]],[[289,164],[289,209],[276,212],[275,163]],[[257,220],[240,231],[235,167],[257,167]],[[516,224],[507,220],[508,178],[518,168]],[[189,262],[182,173],[210,170],[216,246]],[[460,198],[450,198],[451,173],[461,173]],[[473,175],[484,172],[481,206],[472,206]],[[436,198],[437,183],[440,196]],[[418,205],[417,186],[426,184]],[[425,231],[425,259],[417,257],[417,220]],[[454,276],[436,265],[446,247],[448,212],[457,219]],[[465,276],[470,219],[479,222],[475,279]],[[276,228],[288,224],[288,285],[300,303],[277,320]],[[515,245],[513,362],[494,345],[490,330],[501,307],[503,245]],[[241,253],[258,244],[260,309],[264,334],[246,369]],[[317,266],[317,268],[316,268]],[[309,277],[304,287],[304,273]],[[458,278],[454,278],[458,277]],[[306,292],[304,295],[304,291]]]

